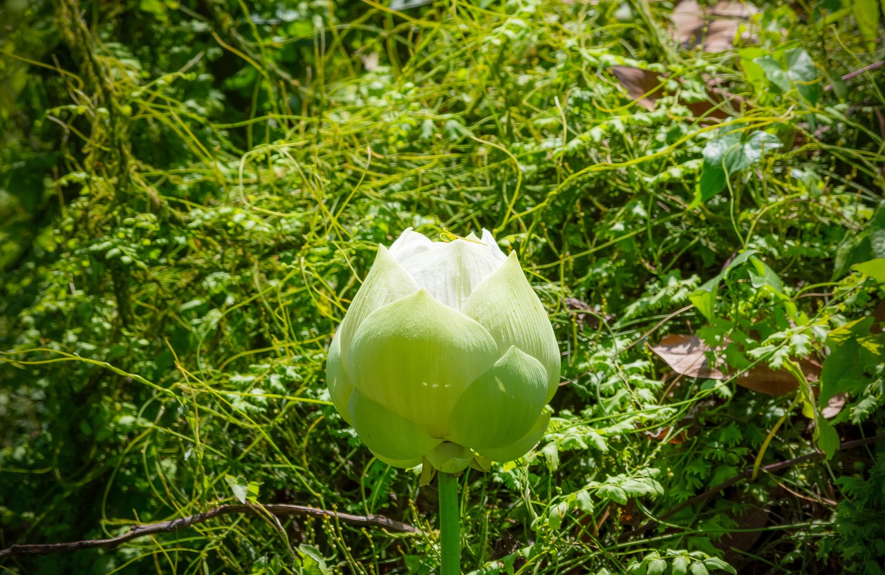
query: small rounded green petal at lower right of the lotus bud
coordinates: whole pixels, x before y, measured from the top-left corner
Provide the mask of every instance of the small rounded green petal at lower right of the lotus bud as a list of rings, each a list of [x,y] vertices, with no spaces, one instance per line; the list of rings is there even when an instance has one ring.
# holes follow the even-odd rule
[[[446,439],[473,449],[503,448],[537,423],[546,397],[544,366],[514,346],[461,395]]]

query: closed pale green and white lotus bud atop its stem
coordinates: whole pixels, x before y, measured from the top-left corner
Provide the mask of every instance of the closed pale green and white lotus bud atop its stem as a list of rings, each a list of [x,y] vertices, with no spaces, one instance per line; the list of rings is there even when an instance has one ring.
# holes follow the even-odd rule
[[[550,319],[487,230],[379,245],[327,361],[335,408],[375,456],[443,472],[525,455],[558,381]]]

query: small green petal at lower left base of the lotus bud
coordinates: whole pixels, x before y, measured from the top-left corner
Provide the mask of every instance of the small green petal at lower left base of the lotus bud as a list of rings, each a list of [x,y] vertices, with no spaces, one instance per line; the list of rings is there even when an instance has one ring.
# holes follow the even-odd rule
[[[354,391],[350,395],[353,427],[376,456],[389,461],[420,459],[442,443],[427,435],[418,424]]]

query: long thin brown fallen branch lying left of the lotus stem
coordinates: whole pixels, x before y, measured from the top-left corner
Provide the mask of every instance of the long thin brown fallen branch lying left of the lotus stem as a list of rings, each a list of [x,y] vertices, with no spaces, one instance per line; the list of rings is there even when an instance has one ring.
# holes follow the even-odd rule
[[[123,533],[110,539],[89,539],[81,541],[69,541],[66,543],[34,543],[29,545],[13,545],[11,548],[0,549],[0,557],[8,557],[13,555],[37,554],[48,555],[50,553],[65,553],[67,551],[76,551],[78,549],[92,548],[116,548],[127,541],[154,535],[156,533],[172,533],[184,527],[202,523],[214,517],[229,515],[231,513],[262,513],[269,512],[277,516],[295,515],[300,517],[329,517],[337,518],[344,523],[350,525],[374,525],[396,531],[400,533],[420,533],[420,530],[412,525],[394,521],[388,517],[379,515],[350,515],[349,513],[338,513],[331,510],[319,510],[304,505],[286,505],[282,503],[271,503],[268,505],[221,505],[215,509],[197,513],[190,517],[179,517],[169,521],[161,521],[159,523],[149,523],[147,525],[132,525],[128,533]]]

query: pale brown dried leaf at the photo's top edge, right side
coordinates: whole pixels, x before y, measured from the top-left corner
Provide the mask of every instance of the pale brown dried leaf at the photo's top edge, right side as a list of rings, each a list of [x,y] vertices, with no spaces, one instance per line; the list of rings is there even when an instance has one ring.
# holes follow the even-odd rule
[[[671,17],[673,40],[686,50],[696,46],[713,53],[731,50],[738,28],[757,12],[756,6],[742,0],[722,0],[712,8],[702,8],[696,0],[682,0]]]

